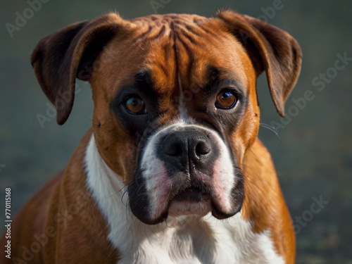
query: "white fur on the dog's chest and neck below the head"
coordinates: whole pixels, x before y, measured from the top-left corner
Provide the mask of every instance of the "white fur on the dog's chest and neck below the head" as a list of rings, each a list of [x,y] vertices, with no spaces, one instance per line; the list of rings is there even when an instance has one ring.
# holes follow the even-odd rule
[[[227,220],[169,217],[145,225],[128,207],[125,183],[103,161],[94,136],[85,156],[87,187],[106,217],[108,239],[121,253],[118,264],[284,263],[275,253],[269,232],[256,234],[241,213]]]

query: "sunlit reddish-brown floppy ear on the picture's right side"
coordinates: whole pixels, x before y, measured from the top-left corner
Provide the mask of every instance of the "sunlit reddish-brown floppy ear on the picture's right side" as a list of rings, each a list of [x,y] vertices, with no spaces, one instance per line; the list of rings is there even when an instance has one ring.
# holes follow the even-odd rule
[[[243,44],[257,76],[265,70],[272,101],[283,117],[284,102],[301,70],[298,42],[284,30],[248,15],[220,11],[216,16],[225,21],[230,32]]]

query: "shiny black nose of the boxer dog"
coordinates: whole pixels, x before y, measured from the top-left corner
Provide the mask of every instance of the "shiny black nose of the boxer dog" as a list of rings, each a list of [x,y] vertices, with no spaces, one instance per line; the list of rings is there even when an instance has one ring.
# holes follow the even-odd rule
[[[206,134],[196,130],[172,132],[161,142],[163,158],[184,169],[209,165],[212,149]]]

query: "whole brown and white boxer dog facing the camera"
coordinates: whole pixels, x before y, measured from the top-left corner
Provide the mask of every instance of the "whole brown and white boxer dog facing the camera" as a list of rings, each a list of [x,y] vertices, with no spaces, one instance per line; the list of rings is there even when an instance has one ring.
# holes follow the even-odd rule
[[[258,75],[284,116],[301,68],[287,32],[234,11],[109,13],[44,37],[32,65],[59,125],[76,77],[90,83],[92,129],[11,223],[1,263],[294,263],[257,138]]]

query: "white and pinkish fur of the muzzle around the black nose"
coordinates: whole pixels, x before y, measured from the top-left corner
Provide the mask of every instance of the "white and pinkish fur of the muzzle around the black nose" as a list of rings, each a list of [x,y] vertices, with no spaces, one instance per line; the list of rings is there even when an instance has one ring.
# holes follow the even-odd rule
[[[187,177],[187,175],[178,171],[179,168],[170,168],[168,161],[163,160],[158,153],[161,149],[160,144],[168,134],[184,130],[206,134],[211,144],[217,149],[218,156],[214,157],[209,163],[211,168],[207,168],[209,173],[206,174],[209,175],[195,169],[195,174],[200,175],[198,176],[199,179],[196,180],[202,182],[204,177],[208,177],[206,182],[207,187],[210,188],[213,205],[218,206],[218,209],[223,213],[230,213],[234,206],[232,189],[236,187],[237,175],[234,171],[234,161],[231,158],[229,148],[215,131],[200,125],[187,125],[183,122],[177,122],[151,135],[146,142],[142,157],[139,159],[142,182],[145,184],[146,196],[148,197],[149,217],[158,218],[164,210],[168,210],[172,192],[175,192],[175,189],[177,190],[175,184],[184,184],[184,181],[191,181],[190,176]],[[180,177],[180,179],[177,179],[177,177]],[[180,189],[182,190],[182,187]],[[184,203],[184,206],[187,208],[182,208],[182,202],[177,201],[171,208],[181,215],[182,210],[184,210],[184,214],[191,214],[192,211],[206,214],[211,209],[210,204],[205,205],[203,203],[199,203],[198,206],[196,203]]]

